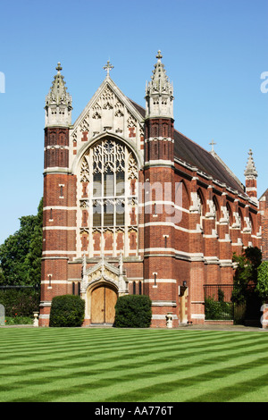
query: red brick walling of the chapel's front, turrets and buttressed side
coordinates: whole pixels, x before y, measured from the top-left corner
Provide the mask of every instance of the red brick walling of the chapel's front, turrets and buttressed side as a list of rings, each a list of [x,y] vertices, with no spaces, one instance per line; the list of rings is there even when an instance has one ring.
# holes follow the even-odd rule
[[[152,137],[172,137],[172,120],[152,120],[146,124],[146,139]],[[77,243],[77,178],[65,172],[49,172],[49,168],[68,167],[68,156],[59,164],[60,155],[52,152],[67,150],[69,144],[68,129],[49,129],[45,131],[45,177],[44,177],[44,237],[42,260],[42,315],[49,314],[49,302],[53,296],[71,293],[71,283],[81,278],[82,264],[75,260],[76,249],[88,249],[88,233],[80,233]],[[172,141],[146,141],[146,157],[148,159],[173,160]],[[156,148],[154,147],[156,145]],[[164,147],[165,146],[165,147]],[[63,147],[61,149],[60,147]],[[65,153],[65,152],[64,152]],[[61,166],[62,165],[62,166]],[[48,170],[48,171],[47,171]],[[143,191],[139,197],[139,204],[144,200],[150,201],[151,211],[146,212],[147,206],[139,214],[132,214],[133,224],[139,223],[138,233],[130,231],[130,256],[136,256],[138,241],[138,259],[129,257],[124,261],[127,278],[130,279],[130,293],[133,292],[133,281],[142,281],[143,293],[153,301],[152,326],[165,326],[165,315],[172,312],[173,326],[178,325],[180,318],[179,286],[187,281],[188,321],[204,323],[204,285],[228,284],[232,282],[233,268],[232,253],[241,253],[243,248],[252,243],[260,246],[256,233],[259,231],[260,214],[257,207],[226,187],[214,183],[195,171],[191,171],[183,164],[175,163],[147,165],[139,172],[139,182],[147,181],[155,185],[156,189],[147,198]],[[181,182],[181,202],[175,202],[175,183]],[[172,185],[172,195],[165,197],[165,183]],[[82,186],[83,197],[88,197],[88,184]],[[192,209],[193,196],[197,193],[202,198],[202,213]],[[209,215],[208,200],[214,200],[217,206],[216,219]],[[164,203],[165,202],[165,203]],[[176,204],[179,217],[171,219],[171,203]],[[156,205],[156,206],[155,206]],[[230,222],[224,220],[222,207],[228,206]],[[267,256],[267,201],[263,201],[263,248]],[[234,212],[241,215],[241,228],[235,227]],[[82,226],[88,226],[88,212],[84,211]],[[251,217],[253,231],[246,230],[245,217]],[[134,220],[135,219],[135,220]],[[266,233],[265,233],[266,232]],[[94,249],[100,250],[100,234],[93,235]],[[124,233],[118,232],[116,248],[121,249]],[[112,233],[105,232],[105,250],[111,251],[113,256]],[[99,256],[96,252],[95,256]],[[93,266],[93,263],[90,266]],[[115,264],[115,263],[113,263]],[[115,264],[116,265],[116,264]],[[89,266],[89,265],[88,265]],[[156,274],[155,274],[156,273]],[[72,280],[71,280],[72,279]],[[76,289],[77,290],[77,289]],[[42,306],[43,305],[43,306]],[[41,323],[48,323],[43,318]]]

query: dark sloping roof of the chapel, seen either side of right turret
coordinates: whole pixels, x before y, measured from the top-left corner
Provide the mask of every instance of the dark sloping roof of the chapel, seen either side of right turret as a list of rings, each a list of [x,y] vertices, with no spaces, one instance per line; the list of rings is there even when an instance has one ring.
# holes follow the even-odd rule
[[[146,110],[142,106],[130,99],[138,111],[145,118]],[[183,162],[196,166],[201,172],[211,175],[214,180],[221,181],[230,187],[236,189],[241,194],[245,194],[244,187],[241,182],[224,164],[219,156],[212,154],[200,147],[197,143],[188,139],[178,130],[174,130],[174,155]]]

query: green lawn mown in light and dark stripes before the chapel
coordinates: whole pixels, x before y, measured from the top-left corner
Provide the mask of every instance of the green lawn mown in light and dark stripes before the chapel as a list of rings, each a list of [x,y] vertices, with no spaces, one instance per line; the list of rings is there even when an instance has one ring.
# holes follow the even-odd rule
[[[268,334],[0,328],[0,401],[268,401]]]

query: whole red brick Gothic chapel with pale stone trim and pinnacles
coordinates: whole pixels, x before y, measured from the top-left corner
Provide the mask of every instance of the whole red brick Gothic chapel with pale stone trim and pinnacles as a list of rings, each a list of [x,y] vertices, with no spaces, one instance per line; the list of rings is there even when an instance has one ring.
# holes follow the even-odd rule
[[[159,51],[146,108],[106,77],[77,121],[58,63],[46,96],[39,325],[52,298],[80,294],[84,325],[113,323],[124,294],[152,300],[153,327],[205,323],[204,286],[231,284],[233,252],[260,247],[255,164],[246,187],[174,129]]]

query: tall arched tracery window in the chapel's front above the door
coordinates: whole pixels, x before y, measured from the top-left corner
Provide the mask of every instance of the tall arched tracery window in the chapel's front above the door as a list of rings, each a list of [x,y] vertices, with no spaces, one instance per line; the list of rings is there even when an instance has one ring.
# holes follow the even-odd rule
[[[80,207],[88,211],[88,231],[83,226],[82,234],[89,236],[81,250],[89,256],[117,256],[122,248],[131,255],[137,248],[137,180],[135,155],[117,139],[97,141],[81,159]]]

